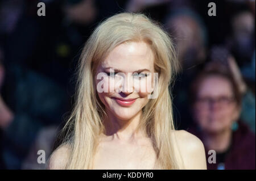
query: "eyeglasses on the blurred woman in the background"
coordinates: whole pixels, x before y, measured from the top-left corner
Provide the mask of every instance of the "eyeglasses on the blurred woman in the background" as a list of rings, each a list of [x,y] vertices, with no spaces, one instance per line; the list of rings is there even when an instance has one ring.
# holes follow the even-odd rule
[[[230,103],[234,102],[234,96],[219,96],[217,98],[210,98],[210,97],[204,97],[204,98],[197,98],[196,103],[199,103],[202,106],[210,106],[214,103],[217,103],[221,106],[228,106]]]

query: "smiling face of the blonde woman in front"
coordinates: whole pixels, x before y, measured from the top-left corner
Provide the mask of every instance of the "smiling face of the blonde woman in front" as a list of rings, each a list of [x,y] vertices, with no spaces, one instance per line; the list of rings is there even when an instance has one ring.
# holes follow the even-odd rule
[[[153,81],[154,54],[143,41],[115,47],[98,66],[95,77],[97,94],[106,112],[121,120],[142,111]]]

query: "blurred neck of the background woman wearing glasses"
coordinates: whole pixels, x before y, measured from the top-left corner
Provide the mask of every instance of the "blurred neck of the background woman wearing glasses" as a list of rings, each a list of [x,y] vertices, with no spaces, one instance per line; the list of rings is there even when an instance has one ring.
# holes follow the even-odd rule
[[[217,153],[225,152],[232,141],[232,131],[230,129],[219,133],[205,133],[203,136],[208,149],[215,150]]]

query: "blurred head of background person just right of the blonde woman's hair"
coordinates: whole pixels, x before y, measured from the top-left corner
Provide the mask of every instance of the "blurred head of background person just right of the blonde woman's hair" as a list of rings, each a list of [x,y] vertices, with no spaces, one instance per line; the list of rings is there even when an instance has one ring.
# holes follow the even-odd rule
[[[207,50],[207,30],[200,15],[192,9],[176,9],[165,20],[166,29],[177,49],[182,70],[204,62]]]

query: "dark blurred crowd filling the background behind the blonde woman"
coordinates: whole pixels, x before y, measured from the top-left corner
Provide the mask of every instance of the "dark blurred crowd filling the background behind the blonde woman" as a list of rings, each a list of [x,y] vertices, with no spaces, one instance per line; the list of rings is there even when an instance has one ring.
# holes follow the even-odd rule
[[[216,151],[208,169],[255,169],[255,1],[246,0],[0,0],[0,168],[45,168],[38,150],[47,160],[71,111],[81,49],[118,12],[143,12],[170,33],[181,65],[175,125],[203,141],[207,159]]]

